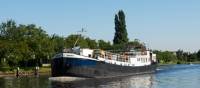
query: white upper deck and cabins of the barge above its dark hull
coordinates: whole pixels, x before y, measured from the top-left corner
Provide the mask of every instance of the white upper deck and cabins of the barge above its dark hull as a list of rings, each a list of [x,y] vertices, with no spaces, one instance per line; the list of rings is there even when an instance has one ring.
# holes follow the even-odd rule
[[[96,61],[104,61],[110,64],[122,65],[122,66],[146,66],[156,62],[156,54],[151,51],[129,51],[121,52],[119,54],[106,52],[103,50],[92,49],[79,49],[74,53],[61,53],[55,57],[70,57],[70,58],[82,58]]]

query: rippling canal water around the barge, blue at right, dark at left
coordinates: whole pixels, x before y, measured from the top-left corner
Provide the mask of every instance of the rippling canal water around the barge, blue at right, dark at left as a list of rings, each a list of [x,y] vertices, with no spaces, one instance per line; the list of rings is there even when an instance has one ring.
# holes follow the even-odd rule
[[[52,81],[48,76],[4,77],[0,88],[200,88],[200,64],[167,65],[158,67],[155,74],[73,82]]]

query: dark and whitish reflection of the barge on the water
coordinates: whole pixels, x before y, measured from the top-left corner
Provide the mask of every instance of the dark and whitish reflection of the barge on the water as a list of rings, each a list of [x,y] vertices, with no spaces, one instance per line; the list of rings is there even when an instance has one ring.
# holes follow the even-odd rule
[[[152,88],[154,75],[86,79],[71,82],[51,81],[52,88]]]

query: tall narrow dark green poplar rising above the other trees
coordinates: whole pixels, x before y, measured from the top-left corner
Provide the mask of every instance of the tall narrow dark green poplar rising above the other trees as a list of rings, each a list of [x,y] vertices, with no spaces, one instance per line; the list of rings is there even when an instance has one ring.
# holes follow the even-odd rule
[[[115,36],[113,39],[113,43],[115,45],[118,44],[126,44],[128,43],[128,33],[126,30],[126,21],[125,14],[122,10],[115,15]]]

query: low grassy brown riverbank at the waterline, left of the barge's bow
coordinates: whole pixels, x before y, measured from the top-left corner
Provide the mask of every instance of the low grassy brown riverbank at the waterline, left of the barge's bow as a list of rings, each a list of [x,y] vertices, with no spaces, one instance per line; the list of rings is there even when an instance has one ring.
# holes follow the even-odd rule
[[[14,77],[16,76],[17,71],[0,71],[0,77]],[[50,67],[41,67],[39,69],[39,76],[40,75],[51,75],[51,68]],[[27,77],[27,76],[35,76],[35,70],[33,69],[20,69],[19,70],[19,77]]]

